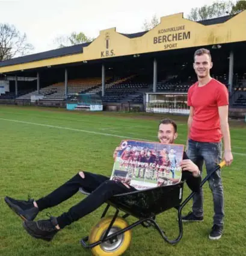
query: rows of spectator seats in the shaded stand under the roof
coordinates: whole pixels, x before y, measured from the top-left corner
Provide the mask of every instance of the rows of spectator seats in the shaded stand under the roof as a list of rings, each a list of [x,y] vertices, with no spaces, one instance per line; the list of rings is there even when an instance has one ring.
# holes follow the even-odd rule
[[[157,92],[165,93],[187,93],[189,87],[197,81],[194,74],[194,70],[188,70],[190,67],[186,67],[185,64],[176,66],[176,70],[160,70],[158,75]],[[114,81],[111,76],[105,78],[105,95],[102,97],[104,103],[120,103],[120,102],[143,102],[143,95],[147,92],[153,92],[153,73],[152,72],[142,73],[129,73],[125,75],[115,75]],[[215,78],[221,83],[226,84],[228,87],[228,75],[227,73],[216,73],[212,74],[212,78]],[[237,86],[233,87],[235,92],[246,92],[246,75],[235,74],[234,80]],[[233,80],[233,81],[234,81]],[[69,80],[67,86],[67,99],[76,93],[95,93],[102,95],[102,78],[80,78],[76,80]],[[37,95],[37,90],[22,95],[19,92],[17,99],[31,99],[31,95]],[[43,95],[43,99],[40,101],[64,101],[65,86],[64,82],[52,84],[51,86],[40,89],[40,94]],[[238,95],[235,95],[238,97]],[[2,96],[0,96],[1,98]],[[14,93],[5,95],[7,99],[14,98]],[[9,98],[8,98],[9,97]],[[234,98],[236,98],[234,97]],[[233,102],[232,102],[233,103]],[[233,105],[244,106],[244,98],[238,98]]]

